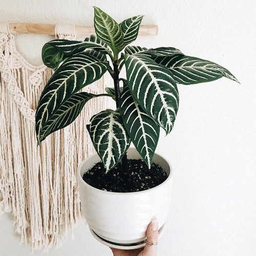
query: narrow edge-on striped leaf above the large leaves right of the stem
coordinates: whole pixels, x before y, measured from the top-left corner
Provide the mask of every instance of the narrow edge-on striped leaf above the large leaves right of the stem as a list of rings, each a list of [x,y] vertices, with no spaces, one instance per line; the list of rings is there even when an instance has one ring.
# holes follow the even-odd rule
[[[127,46],[124,49],[124,52],[127,54],[134,54],[134,55],[141,55],[141,56],[146,56],[150,58],[155,58],[155,57],[161,57],[161,56],[174,56],[177,54],[182,54],[183,53],[173,47],[158,47],[158,48],[151,48],[151,49],[146,49],[146,48],[141,48],[139,46]]]

